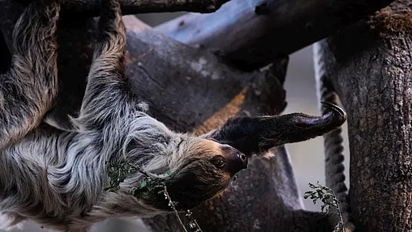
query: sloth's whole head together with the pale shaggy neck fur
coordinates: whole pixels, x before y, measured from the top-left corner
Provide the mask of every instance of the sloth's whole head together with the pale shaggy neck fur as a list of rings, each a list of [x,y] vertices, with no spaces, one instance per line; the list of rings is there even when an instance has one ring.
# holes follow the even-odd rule
[[[149,116],[139,117],[128,131],[130,134],[122,141],[122,156],[112,158],[121,160],[113,162],[127,161],[140,165],[146,172],[160,175],[170,198],[179,202],[178,209],[192,209],[213,198],[248,165],[247,156],[232,146],[172,132]],[[170,174],[164,175],[169,171]],[[163,189],[146,186],[142,189],[143,178],[144,175],[133,171],[120,187],[133,193],[136,193],[134,189],[139,189],[140,202],[159,211],[170,211],[168,200],[159,194]]]

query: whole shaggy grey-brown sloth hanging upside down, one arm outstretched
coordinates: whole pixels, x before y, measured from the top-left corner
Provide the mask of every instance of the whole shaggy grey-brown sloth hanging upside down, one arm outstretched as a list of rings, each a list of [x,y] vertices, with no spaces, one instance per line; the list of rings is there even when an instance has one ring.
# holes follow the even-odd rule
[[[98,43],[76,130],[43,118],[58,94],[56,30],[60,0],[33,0],[16,23],[12,65],[0,77],[0,227],[33,220],[55,231],[89,231],[106,218],[151,217],[172,209],[162,194],[136,198],[130,189],[162,174],[180,210],[226,189],[251,157],[285,143],[339,128],[345,112],[325,104],[321,116],[292,113],[234,117],[207,135],[170,130],[148,115],[148,105],[124,75],[125,28],[118,0],[102,0]],[[107,191],[107,163],[133,171]]]

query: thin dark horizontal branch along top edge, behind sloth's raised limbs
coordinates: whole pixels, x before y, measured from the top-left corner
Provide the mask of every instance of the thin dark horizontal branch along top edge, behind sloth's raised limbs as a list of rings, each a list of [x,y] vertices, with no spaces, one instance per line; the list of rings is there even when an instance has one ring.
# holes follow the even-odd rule
[[[4,1],[4,0],[1,0]],[[28,5],[30,0],[14,0]],[[142,14],[152,12],[201,12],[209,13],[218,10],[229,0],[120,0],[122,14]],[[65,1],[65,13],[76,14],[76,17],[99,16],[101,7],[99,0]]]

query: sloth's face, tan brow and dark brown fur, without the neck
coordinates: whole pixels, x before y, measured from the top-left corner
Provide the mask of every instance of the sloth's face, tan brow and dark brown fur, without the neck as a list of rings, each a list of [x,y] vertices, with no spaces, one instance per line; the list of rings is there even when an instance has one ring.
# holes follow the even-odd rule
[[[179,144],[179,159],[166,182],[178,209],[192,209],[213,198],[247,168],[248,159],[231,146],[208,139],[189,138]],[[164,197],[163,197],[164,198]]]

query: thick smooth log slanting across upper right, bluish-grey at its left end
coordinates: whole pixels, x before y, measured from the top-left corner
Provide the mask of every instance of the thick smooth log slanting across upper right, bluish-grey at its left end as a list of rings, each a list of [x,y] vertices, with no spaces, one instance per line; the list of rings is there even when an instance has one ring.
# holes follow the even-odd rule
[[[220,49],[239,69],[254,70],[391,2],[232,0],[214,14],[185,14],[156,29],[183,43]]]

